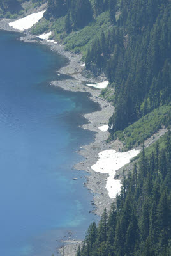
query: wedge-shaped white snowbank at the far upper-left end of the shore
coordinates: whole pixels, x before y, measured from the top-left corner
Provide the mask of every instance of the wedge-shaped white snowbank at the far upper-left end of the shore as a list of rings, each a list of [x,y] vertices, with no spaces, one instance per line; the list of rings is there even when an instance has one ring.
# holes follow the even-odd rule
[[[15,20],[13,22],[9,23],[9,26],[18,29],[20,31],[24,31],[25,29],[31,28],[34,24],[36,24],[41,18],[43,18],[43,14],[46,10],[33,13],[31,15],[28,15],[22,19]]]

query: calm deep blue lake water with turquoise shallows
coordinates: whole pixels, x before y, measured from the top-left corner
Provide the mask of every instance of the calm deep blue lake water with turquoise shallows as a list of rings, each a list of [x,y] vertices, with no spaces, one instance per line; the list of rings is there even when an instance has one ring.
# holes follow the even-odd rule
[[[85,173],[72,167],[94,136],[81,114],[98,106],[50,86],[66,59],[18,37],[0,31],[0,255],[47,256],[95,218]]]

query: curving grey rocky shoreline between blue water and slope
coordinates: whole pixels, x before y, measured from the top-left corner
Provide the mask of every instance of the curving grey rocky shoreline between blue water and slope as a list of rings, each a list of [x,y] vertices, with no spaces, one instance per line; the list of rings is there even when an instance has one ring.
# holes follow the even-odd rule
[[[20,32],[17,29],[13,29],[8,26],[9,19],[0,20],[0,29],[11,32]],[[21,33],[23,35],[23,33]],[[52,42],[40,41],[36,39],[36,35],[30,35],[29,31],[24,34],[24,36],[20,37],[20,40],[24,42],[33,42],[40,43],[42,45],[47,45],[50,49],[58,54],[62,54],[66,58],[68,58],[68,64],[64,67],[61,67],[58,72],[61,74],[67,74],[73,77],[73,79],[68,79],[64,81],[52,81],[50,83],[51,86],[59,86],[63,88],[63,90],[68,90],[71,92],[88,92],[90,93],[90,98],[94,102],[97,102],[101,106],[101,111],[87,113],[84,117],[88,120],[88,123],[82,125],[83,129],[88,129],[90,131],[96,132],[96,136],[94,141],[83,147],[80,147],[78,154],[84,156],[84,161],[75,164],[74,168],[77,170],[84,170],[85,172],[90,173],[87,177],[87,182],[84,183],[84,186],[87,187],[94,194],[92,205],[94,205],[94,214],[98,214],[101,216],[103,209],[106,207],[110,209],[110,204],[114,201],[110,199],[108,196],[108,191],[105,188],[106,179],[108,174],[94,172],[91,169],[91,166],[96,163],[98,160],[98,153],[107,150],[109,148],[113,148],[112,145],[107,145],[105,140],[108,138],[108,131],[103,132],[98,129],[98,127],[105,125],[108,123],[108,119],[112,116],[114,112],[114,106],[109,104],[106,100],[100,97],[101,90],[96,90],[85,86],[82,84],[82,81],[86,81],[86,77],[82,76],[81,72],[84,67],[81,66],[81,54],[74,54],[73,52],[64,51],[63,45],[60,44],[52,44]],[[88,79],[91,82],[96,82],[94,79]],[[68,247],[69,246],[69,247]],[[66,255],[75,255],[75,246],[78,246],[78,242],[70,243],[66,246],[65,254]],[[69,248],[67,252],[67,248]],[[71,248],[73,248],[73,253],[71,254]],[[69,253],[70,252],[70,253]],[[68,254],[69,253],[69,254]]]

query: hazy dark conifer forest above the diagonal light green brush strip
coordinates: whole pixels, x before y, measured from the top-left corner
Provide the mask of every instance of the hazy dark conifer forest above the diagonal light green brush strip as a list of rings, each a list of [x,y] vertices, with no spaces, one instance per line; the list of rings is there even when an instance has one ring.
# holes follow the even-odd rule
[[[94,39],[85,58],[87,69],[105,72],[114,86],[111,134],[171,100],[169,1],[123,0],[118,22],[117,4],[108,1],[112,26]]]

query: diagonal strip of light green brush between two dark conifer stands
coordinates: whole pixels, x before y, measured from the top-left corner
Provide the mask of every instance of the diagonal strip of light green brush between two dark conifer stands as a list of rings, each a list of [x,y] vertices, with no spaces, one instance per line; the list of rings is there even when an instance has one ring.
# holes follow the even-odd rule
[[[168,127],[171,120],[171,106],[161,106],[151,113],[140,118],[134,124],[126,127],[123,131],[117,131],[114,139],[119,138],[123,142],[123,150],[130,150],[143,143],[144,140],[158,132],[162,125]]]

